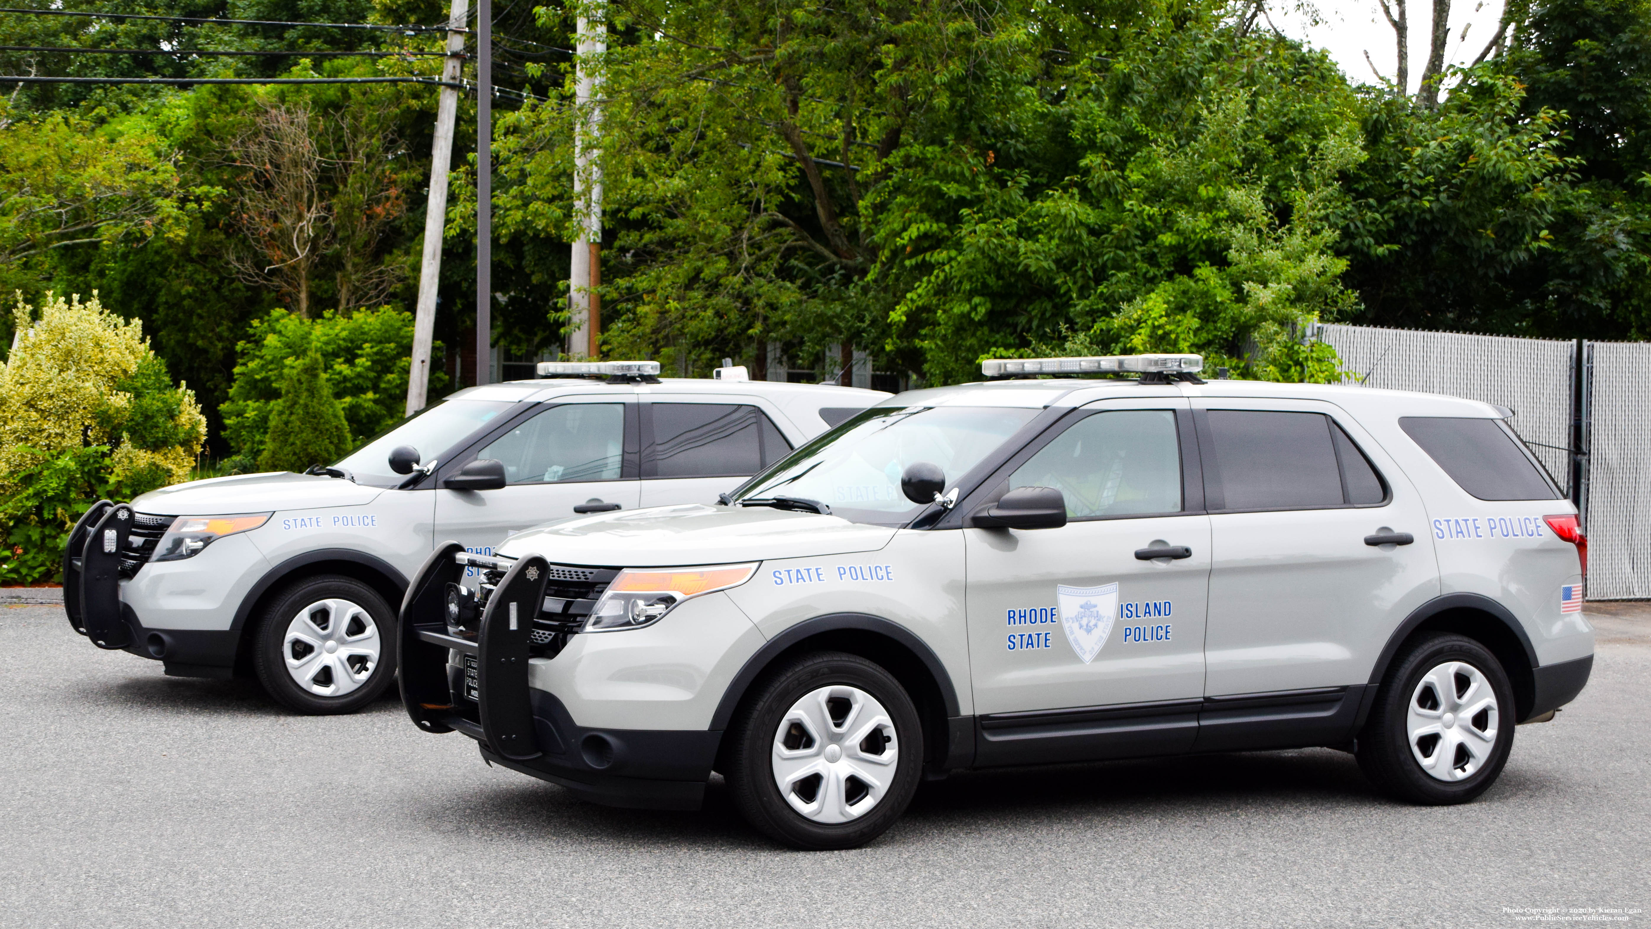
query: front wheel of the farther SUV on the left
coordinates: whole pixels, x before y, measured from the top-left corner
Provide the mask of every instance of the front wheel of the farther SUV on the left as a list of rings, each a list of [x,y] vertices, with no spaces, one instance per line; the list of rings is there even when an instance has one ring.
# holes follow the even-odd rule
[[[296,581],[264,607],[253,634],[258,680],[299,713],[355,713],[383,696],[395,663],[395,615],[353,578]]]

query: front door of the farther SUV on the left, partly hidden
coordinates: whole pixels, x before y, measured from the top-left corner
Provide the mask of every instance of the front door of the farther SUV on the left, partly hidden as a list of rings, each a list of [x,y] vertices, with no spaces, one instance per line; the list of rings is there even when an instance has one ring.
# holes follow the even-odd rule
[[[507,535],[578,516],[576,507],[588,513],[634,510],[636,455],[626,452],[626,419],[634,413],[627,409],[634,403],[617,398],[558,403],[467,454],[464,460],[504,462],[509,483],[499,490],[438,487],[436,540],[492,554]]]

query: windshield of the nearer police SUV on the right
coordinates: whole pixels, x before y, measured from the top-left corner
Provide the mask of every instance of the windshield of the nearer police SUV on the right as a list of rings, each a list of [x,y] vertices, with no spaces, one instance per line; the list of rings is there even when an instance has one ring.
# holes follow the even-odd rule
[[[901,493],[906,467],[938,465],[949,490],[1034,416],[1014,408],[873,406],[758,475],[735,500],[797,497],[857,523],[905,525],[926,507]]]

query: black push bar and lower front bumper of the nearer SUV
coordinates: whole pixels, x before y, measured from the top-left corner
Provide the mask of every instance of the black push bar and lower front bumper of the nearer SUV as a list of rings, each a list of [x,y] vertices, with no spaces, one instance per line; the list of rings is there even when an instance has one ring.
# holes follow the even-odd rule
[[[459,731],[482,757],[613,807],[695,810],[721,733],[591,729],[575,723],[553,693],[528,686],[533,617],[548,564],[518,559],[499,582],[479,632],[447,627],[446,589],[464,568],[459,543],[444,543],[401,602],[401,701],[426,733]],[[451,658],[451,660],[449,660]]]

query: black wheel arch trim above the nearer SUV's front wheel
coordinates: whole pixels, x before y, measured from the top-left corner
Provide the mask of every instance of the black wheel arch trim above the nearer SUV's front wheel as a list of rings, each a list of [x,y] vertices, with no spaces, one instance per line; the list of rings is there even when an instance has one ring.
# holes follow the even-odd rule
[[[799,622],[763,644],[723,691],[710,729],[725,733],[751,686],[778,665],[806,652],[847,652],[888,670],[911,695],[923,719],[925,764],[939,766],[951,749],[948,719],[959,714],[958,688],[939,655],[910,629],[888,619],[840,612]],[[969,729],[972,733],[972,729]],[[718,759],[721,747],[718,747]]]

